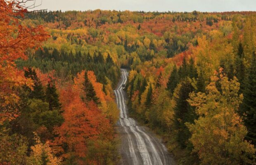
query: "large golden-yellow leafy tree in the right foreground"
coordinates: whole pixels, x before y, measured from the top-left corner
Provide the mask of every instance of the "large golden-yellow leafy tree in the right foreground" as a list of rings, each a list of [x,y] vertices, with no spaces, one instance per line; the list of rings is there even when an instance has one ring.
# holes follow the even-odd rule
[[[222,92],[216,87],[218,81]],[[206,87],[207,94],[190,94],[188,102],[195,106],[199,118],[194,124],[187,123],[187,126],[192,134],[190,141],[194,152],[198,153],[203,165],[252,163],[250,158],[255,148],[244,140],[247,129],[236,113],[243,99],[238,91],[237,78],[229,81],[227,76],[216,74]]]

